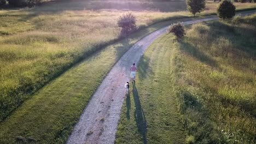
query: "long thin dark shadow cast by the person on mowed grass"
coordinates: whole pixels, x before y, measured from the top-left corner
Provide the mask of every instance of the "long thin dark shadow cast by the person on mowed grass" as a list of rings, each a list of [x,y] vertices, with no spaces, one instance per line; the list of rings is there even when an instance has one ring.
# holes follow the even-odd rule
[[[146,117],[144,115],[144,111],[141,107],[141,101],[139,100],[139,95],[138,95],[138,91],[135,86],[135,83],[133,83],[132,94],[133,94],[133,99],[134,99],[134,103],[135,103],[135,107],[136,107],[136,110],[134,113],[135,121],[137,124],[138,131],[143,137],[143,143],[146,144],[146,143],[148,143],[148,141],[147,141],[147,121],[146,121]]]

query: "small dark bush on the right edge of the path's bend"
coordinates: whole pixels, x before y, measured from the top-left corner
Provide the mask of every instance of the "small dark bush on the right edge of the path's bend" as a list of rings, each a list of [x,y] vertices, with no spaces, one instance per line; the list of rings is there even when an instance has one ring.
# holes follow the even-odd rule
[[[173,33],[178,39],[181,39],[185,35],[185,30],[184,26],[182,25],[181,22],[178,23],[173,23],[169,28],[168,28],[169,33]]]

